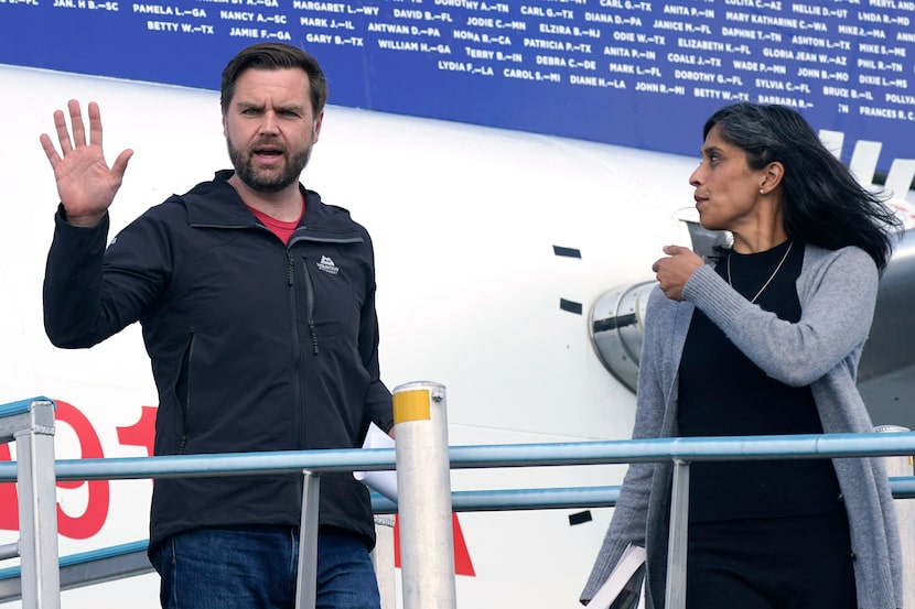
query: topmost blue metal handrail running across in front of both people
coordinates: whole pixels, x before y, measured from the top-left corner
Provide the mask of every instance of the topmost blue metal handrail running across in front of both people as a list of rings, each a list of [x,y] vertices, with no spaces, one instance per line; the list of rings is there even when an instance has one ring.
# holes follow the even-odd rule
[[[676,437],[577,443],[452,446],[452,469],[606,465],[682,459],[810,459],[915,455],[915,432],[777,436]],[[57,480],[123,480],[251,474],[395,469],[394,448],[222,453],[158,457],[58,459]],[[0,464],[0,482],[15,463]]]

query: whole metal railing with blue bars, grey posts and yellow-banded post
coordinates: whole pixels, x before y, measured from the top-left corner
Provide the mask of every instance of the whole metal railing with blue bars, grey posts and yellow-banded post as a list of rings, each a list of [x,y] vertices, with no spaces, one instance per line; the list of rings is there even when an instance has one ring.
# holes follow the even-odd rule
[[[317,533],[317,491],[322,471],[384,470],[397,465],[398,504],[388,507],[401,519],[401,579],[403,609],[456,609],[453,544],[450,539],[452,510],[550,509],[559,507],[613,505],[618,488],[513,489],[452,492],[451,469],[492,467],[539,467],[548,465],[598,465],[610,463],[671,461],[675,466],[670,505],[670,539],[667,574],[668,609],[685,607],[687,505],[689,466],[696,460],[744,460],[784,458],[884,457],[890,487],[903,536],[904,595],[906,606],[915,601],[915,476],[912,455],[915,433],[905,427],[883,426],[871,434],[821,434],[796,436],[734,436],[604,441],[558,444],[449,446],[444,387],[438,383],[408,383],[395,389],[395,423],[398,428],[392,450],[304,450],[281,454],[187,455],[139,459],[98,459],[106,463],[54,461],[54,404],[39,398],[0,405],[0,435],[17,441],[19,482],[19,544],[0,546],[0,557],[21,556],[21,577],[0,572],[0,602],[15,599],[11,585],[21,585],[25,609],[58,609],[60,589],[118,577],[148,573],[146,543],[126,544],[57,558],[55,481],[86,477],[133,478],[165,476],[212,476],[216,474],[305,472],[302,540]],[[895,432],[895,433],[883,433]],[[410,437],[415,436],[415,437]],[[411,446],[408,446],[411,445]],[[394,458],[396,456],[396,459]],[[118,461],[118,463],[114,463]],[[109,465],[110,464],[110,465]],[[12,464],[9,464],[12,465]],[[0,467],[0,481],[8,481],[9,467]],[[431,482],[431,483],[430,483]],[[548,491],[549,497],[543,491]],[[585,491],[583,494],[581,491]],[[596,494],[590,491],[595,491]],[[485,494],[487,497],[480,496]],[[539,499],[538,499],[539,497]],[[373,504],[375,501],[373,500]],[[411,509],[405,509],[408,505]],[[430,509],[430,507],[432,509]],[[384,508],[384,509],[388,509]],[[408,533],[403,535],[403,531]],[[390,553],[390,531],[376,550]],[[311,548],[315,544],[304,543]],[[308,552],[303,554],[309,554]],[[314,607],[315,556],[300,556],[297,609]],[[379,585],[389,584],[389,556],[376,563]],[[383,573],[384,572],[384,573]],[[383,576],[386,580],[381,581]],[[391,586],[381,585],[390,590]],[[392,590],[390,590],[392,591]],[[396,599],[385,594],[385,609]]]

